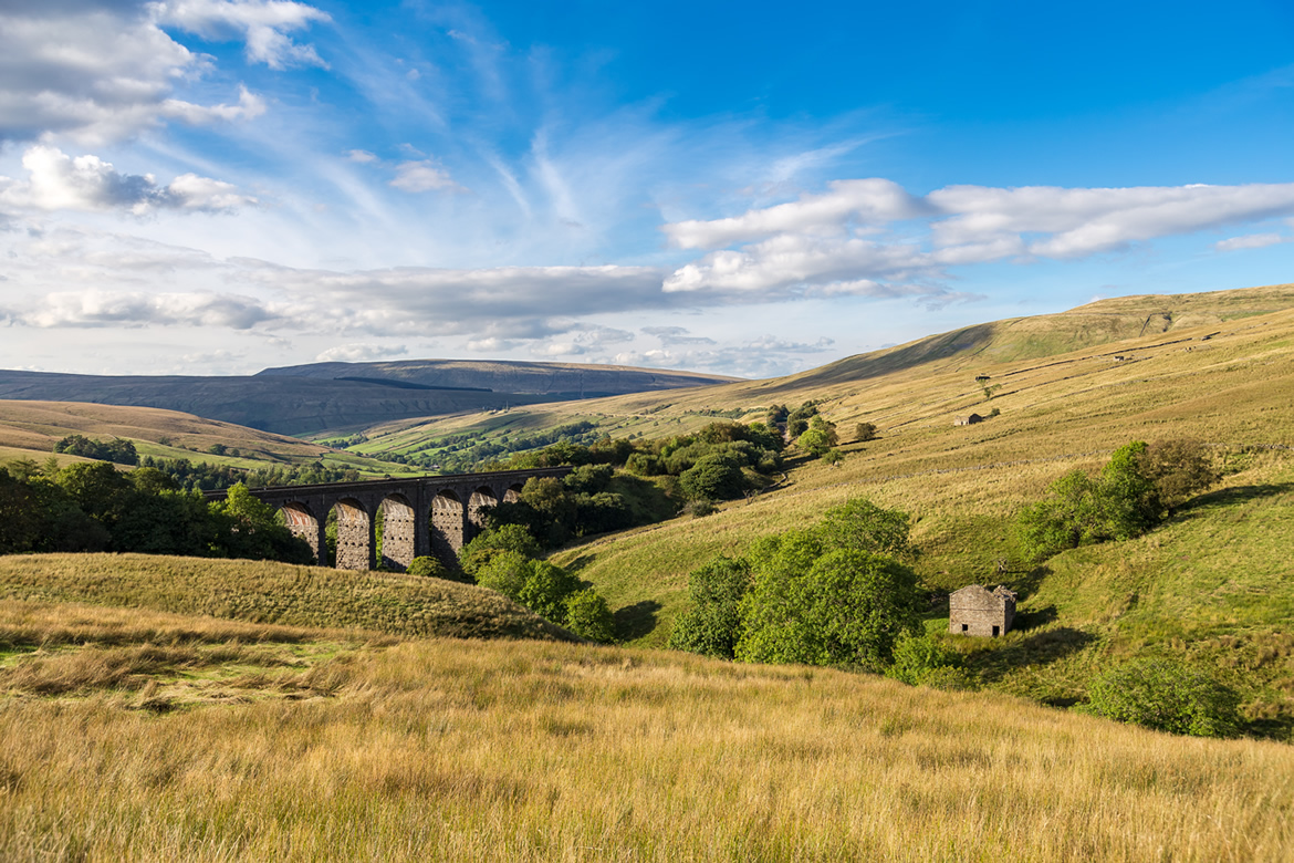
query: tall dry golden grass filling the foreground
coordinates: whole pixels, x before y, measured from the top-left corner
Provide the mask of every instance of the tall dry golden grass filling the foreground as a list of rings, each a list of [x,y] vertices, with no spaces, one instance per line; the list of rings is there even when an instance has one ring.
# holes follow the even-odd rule
[[[5,859],[1278,860],[1294,749],[677,655],[406,642],[335,697],[0,700]]]

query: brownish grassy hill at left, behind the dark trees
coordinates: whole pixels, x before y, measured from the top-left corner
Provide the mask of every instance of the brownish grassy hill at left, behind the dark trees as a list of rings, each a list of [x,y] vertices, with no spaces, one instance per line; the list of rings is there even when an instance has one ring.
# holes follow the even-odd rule
[[[133,441],[141,455],[186,458],[193,462],[243,468],[322,461],[329,467],[355,468],[366,476],[408,472],[402,464],[378,462],[353,453],[339,453],[292,437],[173,410],[0,400],[0,461],[34,458],[41,462],[49,457],[54,444],[69,435],[84,435],[97,440],[123,437]],[[214,455],[206,452],[214,444],[224,444],[230,450],[237,449],[239,455]],[[60,458],[84,461],[72,457]]]

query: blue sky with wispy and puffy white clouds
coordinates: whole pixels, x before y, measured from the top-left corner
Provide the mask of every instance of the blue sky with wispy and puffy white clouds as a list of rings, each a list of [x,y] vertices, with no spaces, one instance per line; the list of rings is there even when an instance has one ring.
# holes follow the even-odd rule
[[[0,367],[763,378],[1291,281],[1288,0],[0,0]]]

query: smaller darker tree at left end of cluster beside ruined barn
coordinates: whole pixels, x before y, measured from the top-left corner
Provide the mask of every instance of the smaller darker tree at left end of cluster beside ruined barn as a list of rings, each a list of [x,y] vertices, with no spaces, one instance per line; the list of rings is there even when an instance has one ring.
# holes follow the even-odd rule
[[[741,635],[741,598],[751,589],[751,563],[719,556],[687,577],[691,608],[679,615],[669,647],[732,659]]]

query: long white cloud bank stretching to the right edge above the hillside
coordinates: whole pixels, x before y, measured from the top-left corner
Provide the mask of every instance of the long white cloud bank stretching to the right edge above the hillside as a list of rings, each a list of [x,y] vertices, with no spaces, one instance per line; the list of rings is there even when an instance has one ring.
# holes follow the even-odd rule
[[[819,195],[713,221],[675,221],[675,246],[714,248],[677,268],[666,292],[744,296],[951,295],[946,269],[1068,259],[1159,237],[1294,212],[1294,184],[1061,189],[947,186],[924,198],[888,180],[828,184]],[[895,224],[902,223],[902,224]],[[1251,247],[1224,241],[1219,250]],[[1233,243],[1233,245],[1228,245]],[[735,246],[725,248],[725,246]]]

